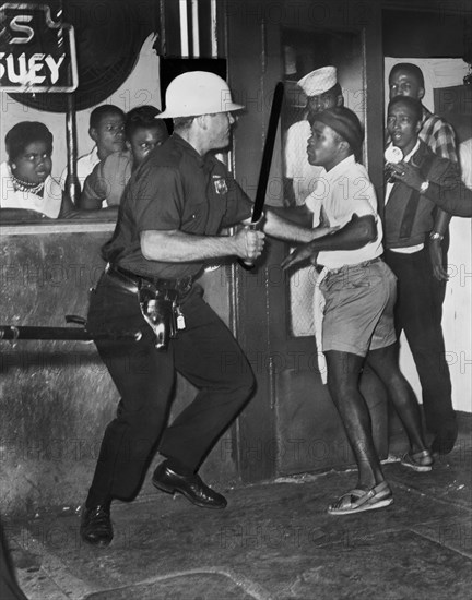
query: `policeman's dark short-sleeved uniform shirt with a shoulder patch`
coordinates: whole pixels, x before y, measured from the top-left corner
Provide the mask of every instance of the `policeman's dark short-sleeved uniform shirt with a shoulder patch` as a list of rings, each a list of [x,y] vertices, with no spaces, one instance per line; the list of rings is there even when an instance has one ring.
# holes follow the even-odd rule
[[[103,256],[137,275],[175,279],[196,276],[203,261],[149,261],[141,252],[142,231],[180,230],[215,236],[250,217],[252,202],[212,154],[201,156],[173,134],[132,175],[121,199],[114,236]]]

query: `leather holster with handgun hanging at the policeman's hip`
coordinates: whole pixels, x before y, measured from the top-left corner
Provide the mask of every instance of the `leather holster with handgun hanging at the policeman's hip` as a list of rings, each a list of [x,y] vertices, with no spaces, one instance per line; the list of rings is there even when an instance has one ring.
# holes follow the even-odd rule
[[[166,350],[169,339],[177,337],[177,320],[182,319],[177,292],[160,290],[153,284],[141,280],[138,297],[141,313],[156,336],[155,347]],[[185,326],[179,325],[180,329]]]

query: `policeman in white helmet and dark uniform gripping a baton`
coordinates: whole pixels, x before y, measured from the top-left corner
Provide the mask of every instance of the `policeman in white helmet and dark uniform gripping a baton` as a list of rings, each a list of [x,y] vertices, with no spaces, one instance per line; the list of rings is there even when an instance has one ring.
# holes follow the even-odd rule
[[[208,508],[226,500],[197,473],[222,432],[255,389],[255,376],[228,328],[194,284],[206,260],[253,261],[264,232],[222,228],[249,223],[252,203],[212,151],[229,144],[233,103],[224,80],[208,72],[176,77],[166,91],[174,133],[133,172],[117,227],[105,244],[107,267],[92,293],[88,327],[142,331],[139,343],[97,341],[121,396],[108,424],[82,514],[82,538],[95,545],[113,539],[110,503],[131,500],[158,447],[166,460],[153,484]],[[269,235],[309,241],[329,229],[305,229],[267,211]],[[221,357],[231,355],[222,368]],[[193,401],[167,424],[176,372],[197,389]]]

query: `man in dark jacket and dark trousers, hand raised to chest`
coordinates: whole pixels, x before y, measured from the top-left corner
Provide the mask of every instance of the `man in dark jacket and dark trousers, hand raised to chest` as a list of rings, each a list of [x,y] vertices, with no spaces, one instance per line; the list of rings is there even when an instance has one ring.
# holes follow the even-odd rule
[[[441,302],[435,293],[427,251],[433,230],[433,200],[464,197],[457,166],[440,158],[418,139],[421,101],[408,96],[390,100],[387,129],[401,161],[388,164],[386,184],[386,262],[398,277],[396,326],[409,341],[422,391],[427,429],[435,435],[432,449],[449,453],[457,437],[451,382],[441,329]]]

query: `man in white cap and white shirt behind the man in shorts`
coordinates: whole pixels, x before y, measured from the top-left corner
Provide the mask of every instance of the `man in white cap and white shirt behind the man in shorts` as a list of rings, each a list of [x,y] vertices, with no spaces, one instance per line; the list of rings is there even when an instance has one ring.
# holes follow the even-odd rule
[[[311,135],[308,118],[327,108],[343,105],[335,67],[322,67],[302,77],[297,85],[307,98],[305,118],[288,128],[284,145],[284,193],[288,206],[303,206],[322,173],[322,167],[310,165],[307,143]]]

